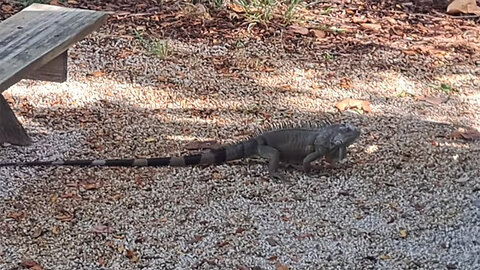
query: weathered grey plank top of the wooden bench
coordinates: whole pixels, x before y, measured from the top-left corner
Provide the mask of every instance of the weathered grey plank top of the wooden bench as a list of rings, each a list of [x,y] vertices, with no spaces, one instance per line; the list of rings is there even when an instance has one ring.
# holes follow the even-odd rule
[[[99,28],[107,13],[33,4],[0,23],[0,93]]]

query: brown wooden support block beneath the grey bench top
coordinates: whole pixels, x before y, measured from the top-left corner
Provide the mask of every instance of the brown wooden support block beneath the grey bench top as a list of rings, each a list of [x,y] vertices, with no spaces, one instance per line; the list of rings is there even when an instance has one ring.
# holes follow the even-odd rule
[[[68,50],[41,66],[39,69],[27,74],[25,79],[64,82],[67,80],[67,61]]]

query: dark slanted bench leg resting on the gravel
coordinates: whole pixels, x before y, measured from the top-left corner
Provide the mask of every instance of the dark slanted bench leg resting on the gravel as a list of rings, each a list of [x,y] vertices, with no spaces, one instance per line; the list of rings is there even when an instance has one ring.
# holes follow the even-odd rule
[[[29,145],[32,143],[7,101],[0,94],[0,144]]]

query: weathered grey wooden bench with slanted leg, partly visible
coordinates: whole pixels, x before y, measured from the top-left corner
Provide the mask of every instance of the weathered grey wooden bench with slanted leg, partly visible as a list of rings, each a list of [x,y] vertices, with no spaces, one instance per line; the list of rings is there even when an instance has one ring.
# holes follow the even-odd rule
[[[22,79],[64,82],[68,48],[98,29],[107,16],[33,4],[0,23],[0,144],[32,142],[2,92]]]

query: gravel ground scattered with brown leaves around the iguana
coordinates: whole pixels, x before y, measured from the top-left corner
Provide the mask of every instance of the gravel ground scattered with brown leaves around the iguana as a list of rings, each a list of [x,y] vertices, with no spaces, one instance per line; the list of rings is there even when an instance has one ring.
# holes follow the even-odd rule
[[[480,269],[480,143],[448,138],[480,128],[478,62],[430,68],[430,56],[389,47],[327,61],[178,40],[161,60],[132,43],[100,31],[70,52],[68,82],[5,92],[34,144],[4,146],[2,160],[180,155],[193,140],[326,116],[362,137],[337,168],[285,168],[291,183],[270,181],[257,159],[0,168],[1,269]],[[431,86],[442,82],[458,93]],[[337,112],[349,97],[372,112]]]

